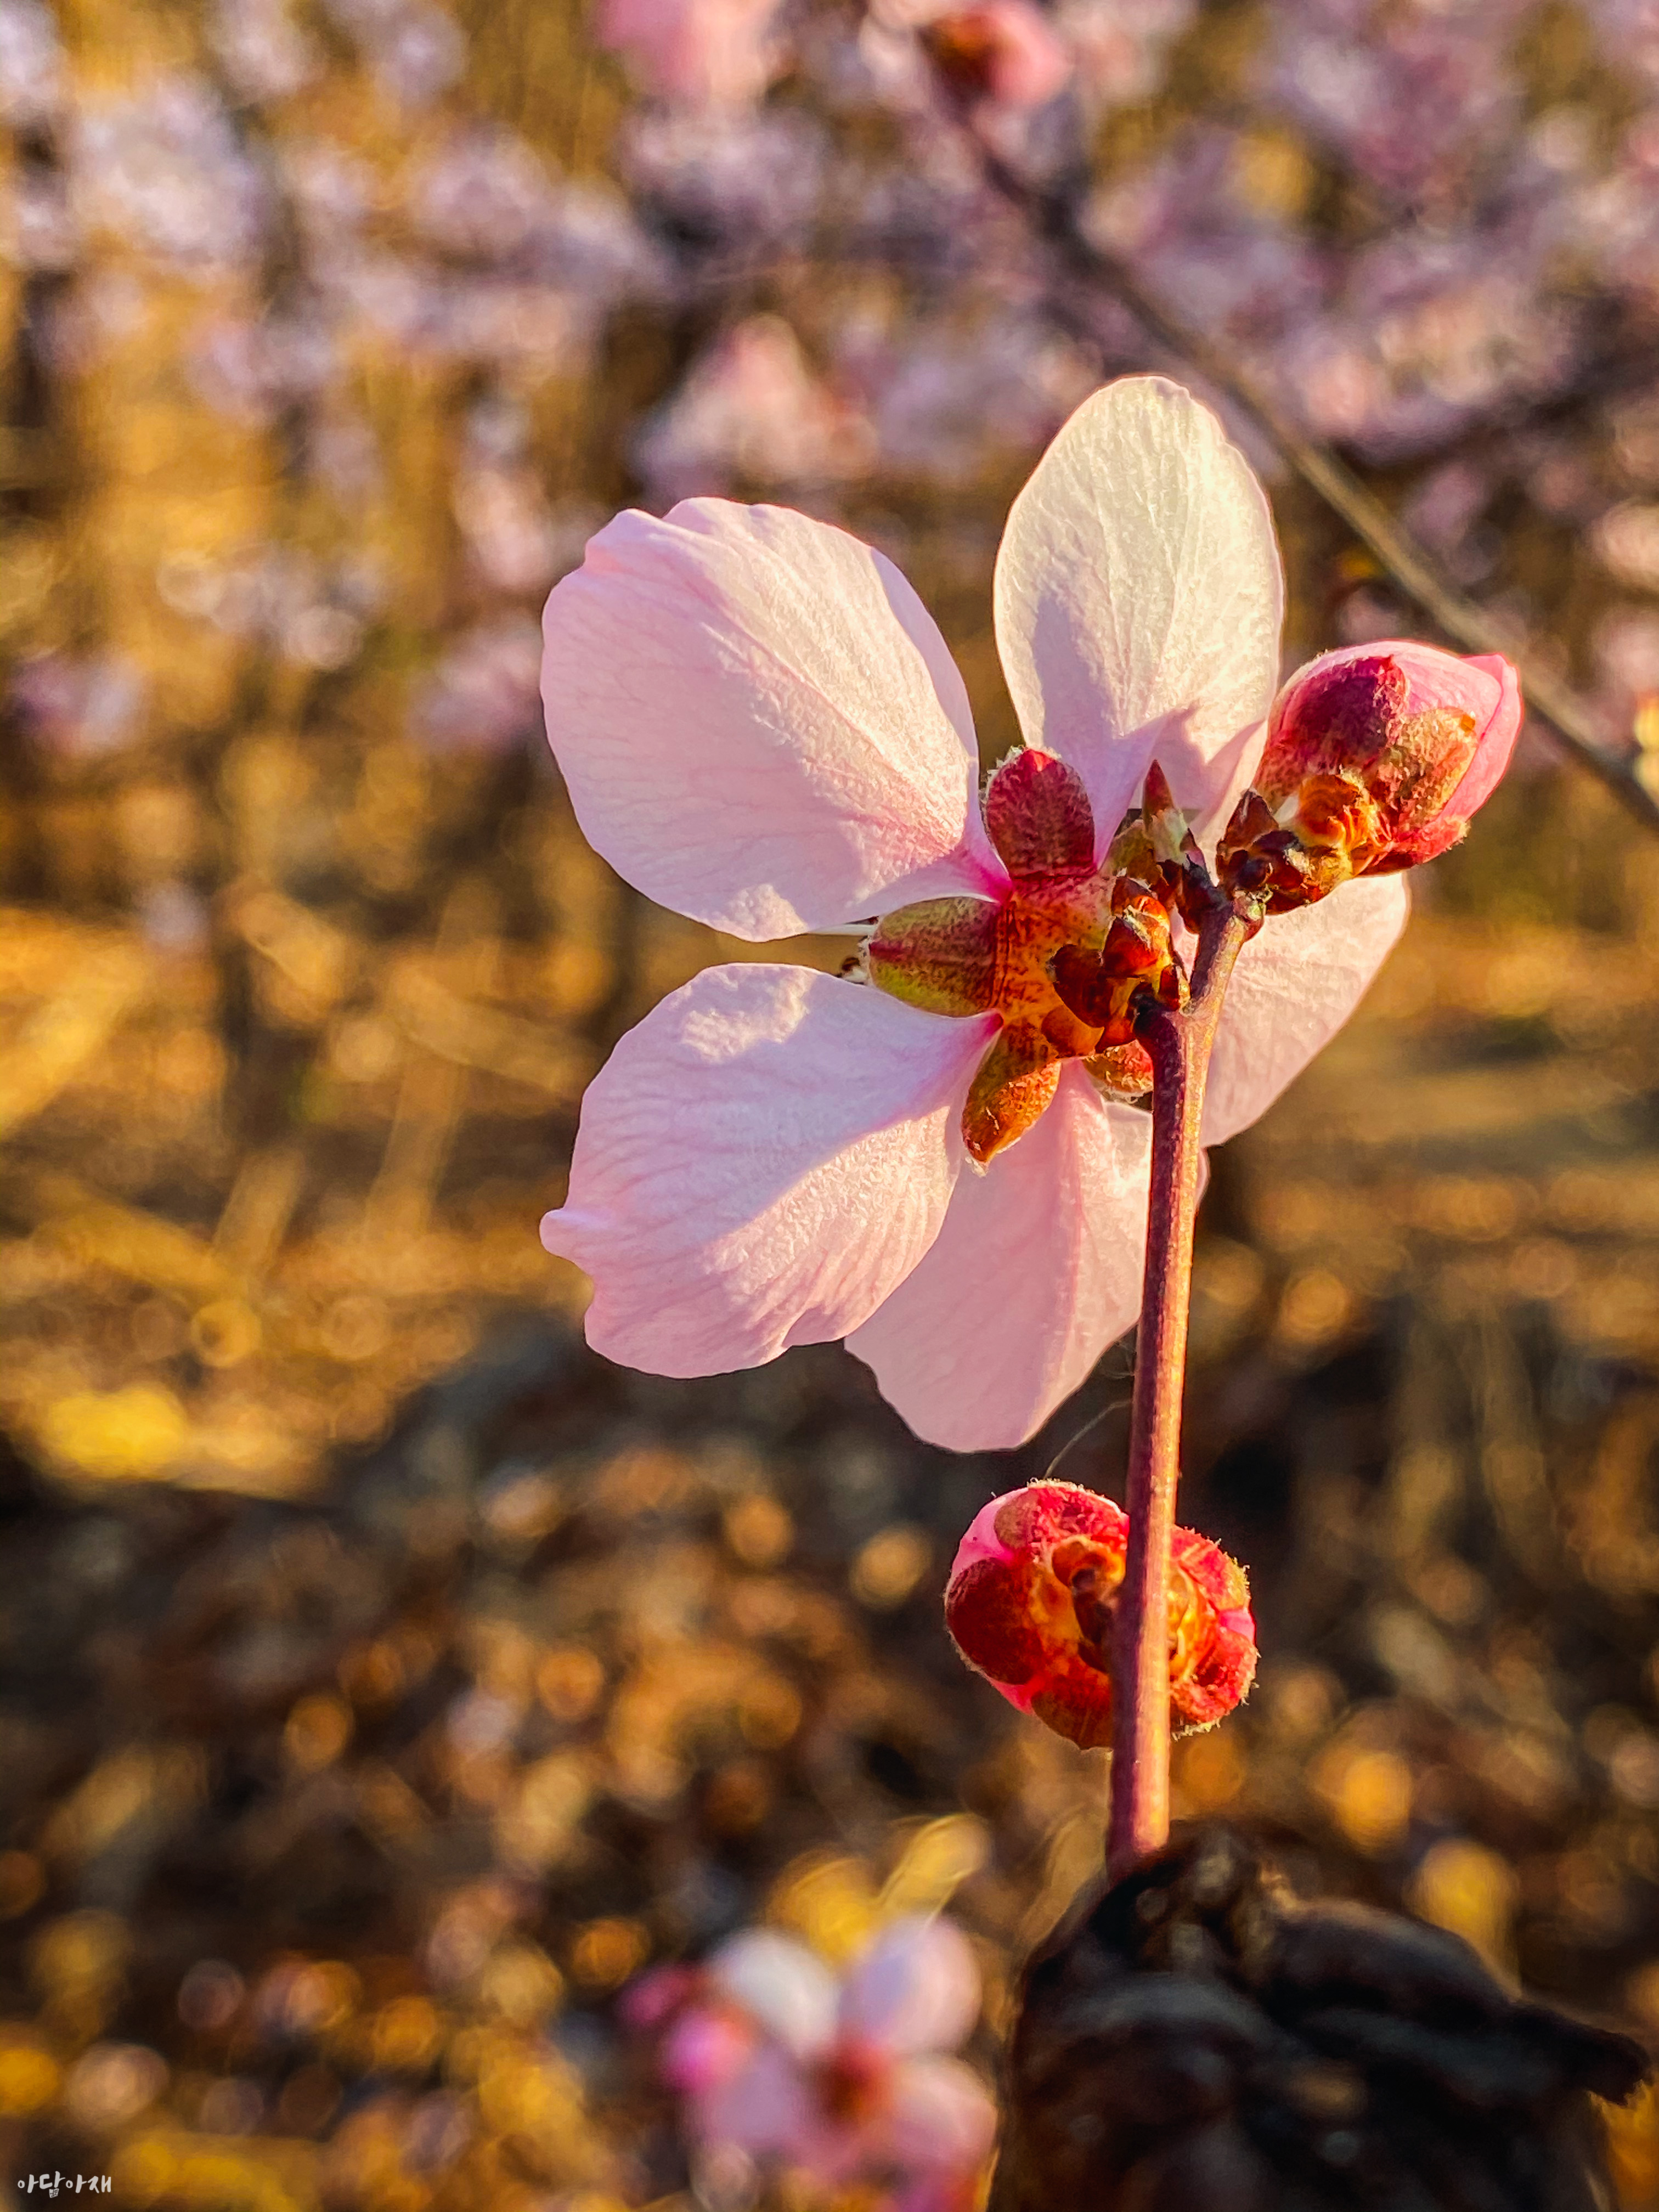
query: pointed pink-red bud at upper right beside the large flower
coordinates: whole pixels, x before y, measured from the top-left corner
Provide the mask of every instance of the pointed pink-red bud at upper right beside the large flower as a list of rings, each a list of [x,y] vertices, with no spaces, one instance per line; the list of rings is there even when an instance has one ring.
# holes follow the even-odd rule
[[[1223,880],[1283,909],[1431,860],[1491,796],[1520,726],[1520,679],[1498,653],[1323,653],[1274,699],[1259,801],[1245,794],[1221,841]]]

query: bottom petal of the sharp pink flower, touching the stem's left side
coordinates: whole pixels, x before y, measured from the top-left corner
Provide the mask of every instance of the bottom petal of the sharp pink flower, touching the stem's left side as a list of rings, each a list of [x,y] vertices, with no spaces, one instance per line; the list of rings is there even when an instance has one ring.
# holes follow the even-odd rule
[[[847,1338],[918,1436],[1022,1444],[1135,1321],[1150,1130],[1073,1062],[1035,1126],[962,1172],[938,1243]]]

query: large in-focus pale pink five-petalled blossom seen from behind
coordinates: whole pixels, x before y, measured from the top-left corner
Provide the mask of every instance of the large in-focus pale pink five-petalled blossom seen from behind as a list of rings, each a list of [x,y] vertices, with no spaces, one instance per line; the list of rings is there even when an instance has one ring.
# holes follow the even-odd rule
[[[887,989],[714,967],[622,1040],[542,1225],[593,1276],[597,1352],[692,1376],[847,1338],[920,1436],[967,1451],[1042,1427],[1137,1314],[1148,1170],[1148,1117],[1046,960],[1106,927],[1099,865],[1152,757],[1199,836],[1225,823],[1281,604],[1267,502],[1217,420],[1152,376],[1097,392],[1004,531],[1026,752],[987,825],[962,677],[880,553],[723,500],[599,531],[549,599],[542,659],[591,843],[739,938],[883,916]],[[1389,876],[1256,936],[1210,1141],[1347,1020],[1405,914]],[[1018,958],[984,960],[998,931]]]

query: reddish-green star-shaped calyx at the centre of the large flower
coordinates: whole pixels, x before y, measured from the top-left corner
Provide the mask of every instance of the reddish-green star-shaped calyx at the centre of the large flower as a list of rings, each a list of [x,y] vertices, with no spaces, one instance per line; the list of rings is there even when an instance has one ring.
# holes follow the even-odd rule
[[[1000,1013],[962,1113],[982,1166],[1048,1106],[1066,1060],[1113,1097],[1148,1088],[1135,1011],[1175,975],[1164,905],[1095,865],[1082,779],[1051,752],[1009,754],[984,792],[984,825],[1011,876],[1004,898],[925,898],[876,925],[869,980],[929,1013]]]

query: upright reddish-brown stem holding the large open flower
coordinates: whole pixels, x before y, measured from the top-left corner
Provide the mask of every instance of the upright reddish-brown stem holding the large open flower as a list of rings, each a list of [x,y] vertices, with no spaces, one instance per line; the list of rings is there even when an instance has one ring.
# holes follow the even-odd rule
[[[1113,1661],[1106,1871],[1115,1882],[1170,1836],[1170,1544],[1181,1480],[1192,1223],[1203,1179],[1199,1128],[1221,1000],[1256,927],[1259,918],[1245,907],[1217,902],[1199,925],[1188,1004],[1159,1006],[1139,1026],[1152,1060],[1152,1188],[1128,1444],[1128,1557]]]

